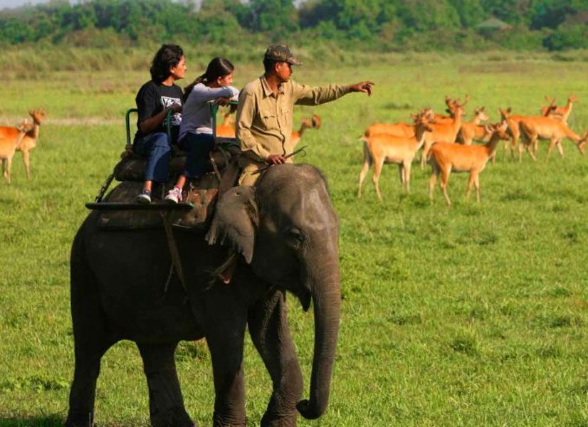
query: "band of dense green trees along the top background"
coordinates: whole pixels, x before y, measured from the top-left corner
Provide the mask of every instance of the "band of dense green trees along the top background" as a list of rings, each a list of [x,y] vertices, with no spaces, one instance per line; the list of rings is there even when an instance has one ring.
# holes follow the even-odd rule
[[[481,27],[495,18],[508,25]],[[331,40],[371,50],[588,48],[588,0],[68,1],[0,11],[0,43]]]

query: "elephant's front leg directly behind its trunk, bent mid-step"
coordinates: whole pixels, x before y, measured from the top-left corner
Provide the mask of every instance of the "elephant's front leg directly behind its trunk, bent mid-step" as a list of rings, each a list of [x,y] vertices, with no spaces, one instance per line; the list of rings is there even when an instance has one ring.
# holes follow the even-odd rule
[[[303,393],[303,377],[286,317],[285,294],[275,291],[258,302],[248,316],[251,339],[273,381],[273,393],[261,426],[296,426],[296,404]]]

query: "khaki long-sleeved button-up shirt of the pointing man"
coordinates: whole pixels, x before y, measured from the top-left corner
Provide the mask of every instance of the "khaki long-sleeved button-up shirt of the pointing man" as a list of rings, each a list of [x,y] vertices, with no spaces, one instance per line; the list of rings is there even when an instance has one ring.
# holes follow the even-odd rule
[[[290,154],[294,148],[290,142],[294,105],[324,104],[350,92],[347,85],[312,88],[289,80],[275,95],[262,75],[239,95],[235,135],[241,149],[248,157],[262,161],[271,154]]]

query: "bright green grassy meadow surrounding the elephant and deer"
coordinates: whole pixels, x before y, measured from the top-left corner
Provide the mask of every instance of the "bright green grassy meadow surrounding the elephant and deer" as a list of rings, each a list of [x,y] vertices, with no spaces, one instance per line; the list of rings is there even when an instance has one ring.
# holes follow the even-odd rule
[[[572,58],[573,59],[573,58]],[[188,75],[201,63],[188,58]],[[564,142],[547,161],[509,157],[481,174],[482,202],[464,199],[467,176],[452,174],[448,208],[439,188],[429,203],[430,168],[414,164],[411,193],[397,167],[357,199],[358,137],[372,122],[409,120],[445,95],[538,114],[544,95],[579,102],[569,119],[588,129],[588,62],[482,53],[396,54],[370,63],[306,61],[300,83],[374,80],[372,97],[351,94],[312,113],[305,157],[327,175],[340,216],[342,320],[329,409],[300,426],[588,426],[588,159]],[[192,65],[192,66],[191,66]],[[236,85],[261,74],[261,62],[236,64]],[[0,125],[33,107],[48,113],[27,181],[17,153],[12,184],[0,182],[0,426],[60,426],[73,376],[69,251],[73,236],[125,144],[124,112],[148,72],[87,69],[43,78],[6,76]],[[187,79],[188,80],[188,79]],[[313,315],[291,297],[290,326],[305,382],[310,380]],[[214,389],[205,344],[177,351],[184,401],[194,421],[211,423]],[[245,353],[247,413],[258,425],[271,380],[251,341]],[[308,397],[308,387],[305,391]],[[147,426],[142,363],[132,342],[103,358],[96,422]]]

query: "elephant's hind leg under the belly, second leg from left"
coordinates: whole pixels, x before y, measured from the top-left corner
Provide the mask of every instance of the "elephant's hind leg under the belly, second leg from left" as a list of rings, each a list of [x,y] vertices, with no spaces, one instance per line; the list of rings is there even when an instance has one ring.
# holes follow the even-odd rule
[[[137,343],[149,386],[149,413],[153,427],[194,426],[184,408],[174,361],[177,342]]]

